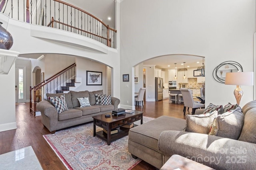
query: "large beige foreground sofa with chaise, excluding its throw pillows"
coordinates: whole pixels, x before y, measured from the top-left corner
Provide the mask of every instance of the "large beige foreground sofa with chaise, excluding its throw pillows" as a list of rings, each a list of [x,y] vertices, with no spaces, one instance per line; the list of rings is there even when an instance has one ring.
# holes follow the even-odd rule
[[[217,170],[256,169],[256,100],[246,104],[242,112],[244,122],[238,136],[247,142],[186,132],[186,120],[161,116],[130,129],[128,150],[133,158],[159,169],[173,154]]]

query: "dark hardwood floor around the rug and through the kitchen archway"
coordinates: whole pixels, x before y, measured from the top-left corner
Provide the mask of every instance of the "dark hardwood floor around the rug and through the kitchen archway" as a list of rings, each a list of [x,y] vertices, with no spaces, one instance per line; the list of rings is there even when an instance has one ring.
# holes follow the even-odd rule
[[[144,102],[144,107],[136,106],[136,110],[144,111],[144,116],[160,117],[167,115],[185,119],[183,104],[169,104],[168,99],[159,102]],[[186,111],[190,113],[191,111]],[[34,117],[29,112],[29,103],[16,105],[17,129],[0,132],[0,154],[32,146],[44,170],[65,170],[66,167],[56,156],[42,135],[50,132],[41,123],[41,116]],[[147,162],[140,162],[133,170],[155,170]]]

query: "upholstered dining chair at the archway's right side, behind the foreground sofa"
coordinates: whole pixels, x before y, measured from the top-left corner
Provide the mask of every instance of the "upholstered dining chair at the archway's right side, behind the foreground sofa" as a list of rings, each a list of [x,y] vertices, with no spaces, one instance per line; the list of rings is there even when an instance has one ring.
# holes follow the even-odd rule
[[[180,88],[180,92],[183,97],[183,103],[184,103],[184,108],[183,108],[183,113],[185,115],[186,113],[186,107],[191,107],[192,108],[192,115],[195,114],[196,109],[198,108],[203,108],[204,104],[195,102],[191,93],[191,90],[188,88]]]

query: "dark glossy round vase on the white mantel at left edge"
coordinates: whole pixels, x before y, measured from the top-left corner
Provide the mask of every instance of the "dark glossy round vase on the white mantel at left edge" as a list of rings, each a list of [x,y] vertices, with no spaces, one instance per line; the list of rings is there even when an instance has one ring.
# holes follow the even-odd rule
[[[10,49],[13,44],[12,35],[2,27],[2,22],[0,22],[0,49]]]

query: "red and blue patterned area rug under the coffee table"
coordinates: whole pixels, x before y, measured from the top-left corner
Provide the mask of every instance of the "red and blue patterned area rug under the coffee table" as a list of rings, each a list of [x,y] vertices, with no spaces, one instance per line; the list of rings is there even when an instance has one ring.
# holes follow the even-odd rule
[[[143,123],[154,118],[143,116]],[[140,125],[140,121],[135,124]],[[102,128],[96,126],[96,131]],[[68,170],[130,170],[141,159],[128,152],[128,136],[113,141],[93,137],[93,123],[86,123],[43,135]]]

